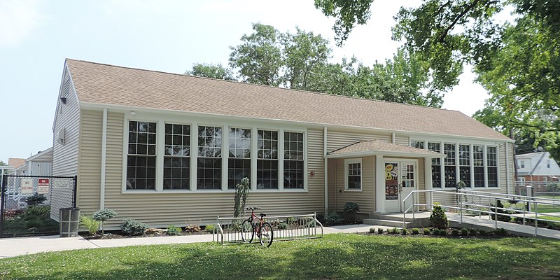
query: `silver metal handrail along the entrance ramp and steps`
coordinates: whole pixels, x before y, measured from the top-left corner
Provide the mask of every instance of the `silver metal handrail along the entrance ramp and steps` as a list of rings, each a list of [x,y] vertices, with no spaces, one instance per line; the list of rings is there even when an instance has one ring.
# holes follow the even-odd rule
[[[412,209],[412,220],[415,220],[415,216],[414,216],[414,207],[419,207],[419,206],[430,206],[433,207],[435,206],[435,204],[433,204],[433,199],[430,201],[430,203],[414,203],[414,193],[430,193],[430,195],[433,197],[433,193],[446,193],[447,195],[449,195],[451,192],[449,191],[444,191],[444,190],[412,190],[411,193],[409,193],[404,200],[402,200],[402,204],[403,204],[403,209],[406,208],[406,201],[409,200],[409,197],[412,195],[412,204],[405,209],[405,211],[403,212],[403,216],[402,216],[402,227],[406,228],[406,215],[407,212]],[[477,193],[485,193],[487,195],[479,195]],[[456,193],[453,193],[454,195],[457,196],[457,202],[458,202],[458,207],[454,207],[451,205],[441,205],[442,207],[445,207],[447,209],[457,209],[459,212],[459,224],[463,223],[463,211],[475,211],[479,213],[479,216],[481,214],[489,214],[489,218],[491,218],[491,215],[494,215],[494,220],[496,221],[495,223],[495,227],[498,228],[498,215],[500,216],[510,216],[510,217],[519,217],[515,214],[507,214],[507,213],[498,213],[498,209],[499,210],[506,210],[506,211],[514,211],[520,214],[523,214],[522,217],[523,218],[523,223],[525,224],[525,219],[527,220],[533,220],[535,221],[535,233],[534,235],[537,236],[538,235],[538,221],[544,221],[544,222],[552,222],[552,223],[558,223],[558,221],[554,221],[554,220],[550,220],[550,219],[546,219],[546,218],[539,218],[539,213],[538,213],[538,204],[545,204],[545,205],[553,205],[553,206],[558,206],[560,207],[560,203],[556,202],[556,200],[552,200],[552,202],[548,202],[546,200],[550,200],[550,199],[546,199],[545,201],[542,201],[539,197],[528,197],[528,196],[521,196],[521,195],[509,195],[509,194],[502,194],[502,193],[490,193],[490,192],[482,192],[482,191],[477,191],[477,190],[459,190]],[[508,199],[508,197],[524,197],[527,198],[528,200],[525,199],[519,199],[517,200],[518,202],[526,202],[528,204],[533,204],[534,207],[533,209],[535,209],[535,211],[529,211],[529,210],[525,210],[525,209],[510,209],[510,208],[504,208],[504,207],[497,207],[497,201],[498,200],[504,200],[504,199]],[[463,199],[459,199],[461,197],[465,197],[465,203],[463,203]],[[468,197],[478,197],[479,202],[478,204],[475,204],[474,200],[472,200],[472,203],[468,203]],[[482,200],[481,198],[484,198],[485,200],[488,200],[488,204],[482,204]],[[535,200],[538,199],[538,200]],[[494,200],[494,205],[492,206],[490,201]],[[540,201],[539,201],[540,200]],[[479,207],[479,208],[483,208],[483,209],[490,209],[489,211],[486,210],[482,210],[482,209],[472,209],[472,208],[465,208],[465,207]],[[491,210],[494,211],[491,211]],[[531,209],[531,208],[529,208]],[[526,215],[530,215],[530,216],[526,216]],[[556,214],[552,214],[552,213],[541,213],[541,216],[543,216],[543,214],[545,214],[545,216],[551,216],[551,217],[558,217],[560,218],[560,215],[556,215]],[[534,215],[534,216],[533,216]]]

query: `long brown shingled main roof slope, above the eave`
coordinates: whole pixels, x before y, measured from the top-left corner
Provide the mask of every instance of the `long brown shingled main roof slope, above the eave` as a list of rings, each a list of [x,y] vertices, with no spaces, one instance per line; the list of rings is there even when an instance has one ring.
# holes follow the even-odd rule
[[[459,111],[66,59],[80,102],[508,140]]]

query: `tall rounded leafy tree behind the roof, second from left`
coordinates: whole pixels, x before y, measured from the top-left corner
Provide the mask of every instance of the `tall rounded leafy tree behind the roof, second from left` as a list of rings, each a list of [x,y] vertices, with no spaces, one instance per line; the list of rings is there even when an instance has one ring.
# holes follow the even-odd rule
[[[246,83],[278,86],[282,66],[279,31],[260,23],[254,23],[253,30],[253,34],[241,36],[241,45],[230,47],[230,66],[239,69]]]

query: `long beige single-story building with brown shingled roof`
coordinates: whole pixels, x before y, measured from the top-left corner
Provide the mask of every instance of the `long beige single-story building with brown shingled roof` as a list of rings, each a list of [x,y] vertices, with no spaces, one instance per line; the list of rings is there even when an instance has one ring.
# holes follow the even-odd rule
[[[460,180],[513,192],[513,141],[458,111],[73,59],[58,98],[52,173],[113,228],[232,216],[244,176],[269,215],[398,212],[412,190],[454,203]]]

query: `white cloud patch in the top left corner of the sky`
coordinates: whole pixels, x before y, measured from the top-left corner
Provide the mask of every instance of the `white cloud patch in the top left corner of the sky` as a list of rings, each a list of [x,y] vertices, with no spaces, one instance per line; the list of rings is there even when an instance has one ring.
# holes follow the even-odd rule
[[[41,0],[0,0],[0,46],[14,46],[31,36],[43,20]]]

